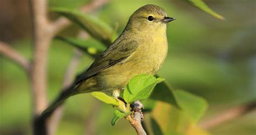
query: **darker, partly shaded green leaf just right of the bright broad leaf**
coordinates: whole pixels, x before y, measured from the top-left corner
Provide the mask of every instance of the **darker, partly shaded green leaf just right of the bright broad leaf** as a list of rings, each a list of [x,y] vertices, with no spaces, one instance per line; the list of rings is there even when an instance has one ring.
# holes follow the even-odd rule
[[[205,99],[187,91],[174,90],[167,81],[156,86],[150,99],[160,100],[177,107],[193,122],[197,122],[203,116],[208,106]]]

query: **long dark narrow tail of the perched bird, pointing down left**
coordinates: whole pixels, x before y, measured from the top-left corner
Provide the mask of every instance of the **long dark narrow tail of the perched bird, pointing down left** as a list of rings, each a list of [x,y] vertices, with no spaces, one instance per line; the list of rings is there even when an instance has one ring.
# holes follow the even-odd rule
[[[59,105],[64,103],[65,99],[67,99],[70,96],[74,95],[73,89],[75,89],[74,86],[70,86],[70,87],[66,88],[65,90],[63,90],[63,92],[59,95],[59,97],[47,109],[45,109],[40,114],[40,116],[41,117],[48,117],[48,116],[50,116],[51,113],[56,109],[56,107],[58,107]]]

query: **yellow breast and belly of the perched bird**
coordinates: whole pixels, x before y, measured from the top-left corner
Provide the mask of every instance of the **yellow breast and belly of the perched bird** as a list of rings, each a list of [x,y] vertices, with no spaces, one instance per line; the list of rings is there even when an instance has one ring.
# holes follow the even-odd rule
[[[104,90],[119,89],[136,75],[155,75],[163,65],[168,50],[166,35],[159,36],[143,38],[138,42],[137,51],[129,58],[100,72],[98,85]]]

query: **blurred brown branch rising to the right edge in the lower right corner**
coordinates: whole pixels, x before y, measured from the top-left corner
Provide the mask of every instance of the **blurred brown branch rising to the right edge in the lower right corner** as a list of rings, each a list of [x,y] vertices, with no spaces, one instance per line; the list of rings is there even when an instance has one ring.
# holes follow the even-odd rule
[[[245,104],[245,105],[239,105],[239,106],[233,107],[232,109],[228,109],[226,111],[221,112],[217,116],[214,116],[211,119],[201,123],[200,126],[203,127],[203,129],[210,130],[215,126],[224,124],[235,118],[244,116],[248,112],[252,112],[255,110],[256,110],[256,101]]]

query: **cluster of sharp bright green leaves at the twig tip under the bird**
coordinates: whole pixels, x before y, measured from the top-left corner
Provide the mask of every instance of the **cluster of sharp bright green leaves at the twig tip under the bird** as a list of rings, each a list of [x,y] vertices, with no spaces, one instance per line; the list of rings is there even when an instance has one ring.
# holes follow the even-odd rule
[[[114,116],[111,122],[112,125],[115,125],[117,120],[131,113],[131,103],[149,97],[154,86],[162,81],[162,78],[156,78],[152,75],[146,74],[133,77],[124,90],[123,98],[125,103],[117,98],[107,96],[103,92],[92,92],[92,96],[98,98],[104,103],[117,107],[117,110],[114,111]]]

